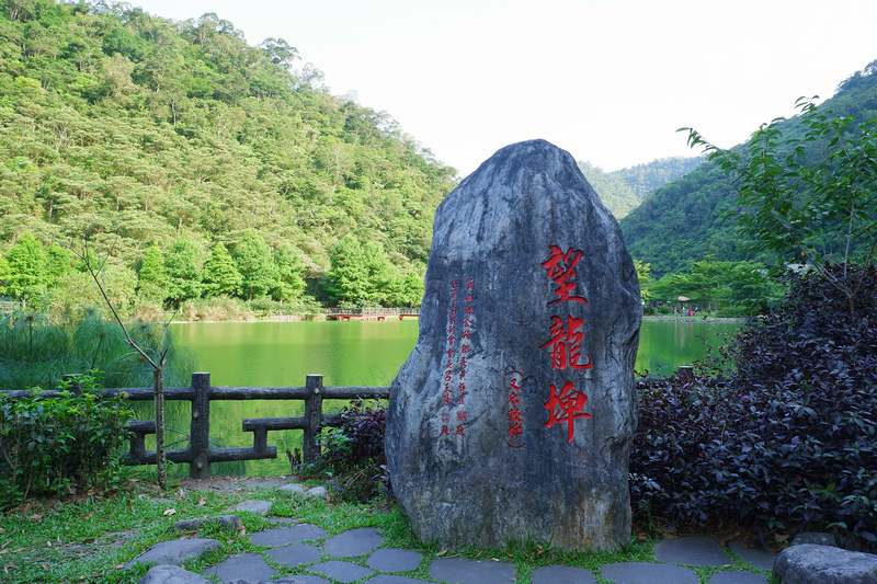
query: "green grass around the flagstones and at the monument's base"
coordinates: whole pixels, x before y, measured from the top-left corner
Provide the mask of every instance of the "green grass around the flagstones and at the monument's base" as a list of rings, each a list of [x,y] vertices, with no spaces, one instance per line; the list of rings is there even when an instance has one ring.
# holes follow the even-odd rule
[[[184,483],[184,481],[183,481]],[[159,541],[180,537],[217,539],[220,547],[192,560],[185,568],[202,572],[236,553],[264,551],[251,542],[250,534],[276,527],[272,518],[292,517],[324,528],[328,537],[356,527],[376,527],[385,547],[412,549],[423,559],[417,570],[400,575],[431,580],[429,565],[436,558],[465,558],[510,562],[515,565],[517,582],[528,584],[531,572],[540,565],[566,564],[597,571],[615,562],[650,562],[653,541],[640,537],[615,552],[563,551],[533,540],[510,543],[505,548],[440,549],[424,543],[411,531],[406,517],[392,502],[369,504],[326,502],[286,495],[273,489],[191,491],[176,486],[159,491],[151,483],[132,481],[125,490],[91,492],[67,500],[29,500],[0,517],[0,581],[136,583],[148,566],[126,569],[125,564]],[[180,534],[171,528],[179,519],[209,517],[232,513],[230,506],[247,500],[273,502],[269,517],[234,512],[243,522],[240,531],[207,525],[200,531]],[[306,574],[305,566],[294,569],[265,560],[281,576]],[[365,565],[367,557],[346,559]],[[747,565],[738,562],[737,568]],[[707,583],[717,569],[693,569]],[[597,582],[607,581],[597,577]]]

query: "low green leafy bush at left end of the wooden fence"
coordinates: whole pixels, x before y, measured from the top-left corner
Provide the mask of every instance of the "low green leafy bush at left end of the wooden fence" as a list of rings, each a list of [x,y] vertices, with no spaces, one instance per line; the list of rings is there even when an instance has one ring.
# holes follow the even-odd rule
[[[65,381],[58,397],[38,388],[21,399],[0,394],[0,509],[30,494],[105,485],[130,417],[126,401],[104,397],[93,374]]]

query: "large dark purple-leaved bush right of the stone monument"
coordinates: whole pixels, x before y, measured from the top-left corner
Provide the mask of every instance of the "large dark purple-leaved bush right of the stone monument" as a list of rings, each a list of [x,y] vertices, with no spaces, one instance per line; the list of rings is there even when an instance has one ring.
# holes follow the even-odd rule
[[[854,311],[830,280],[790,276],[781,306],[730,347],[727,385],[672,378],[640,392],[635,511],[763,533],[833,529],[877,549],[877,274]]]

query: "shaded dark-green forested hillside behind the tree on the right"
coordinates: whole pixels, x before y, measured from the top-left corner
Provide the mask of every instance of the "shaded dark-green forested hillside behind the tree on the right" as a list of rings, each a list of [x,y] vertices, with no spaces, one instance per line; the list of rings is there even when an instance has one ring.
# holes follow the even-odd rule
[[[857,123],[877,117],[877,61],[843,81],[834,96],[820,105],[834,116],[854,116]],[[796,96],[790,95],[793,103]],[[796,117],[782,124],[785,138],[804,134]],[[704,130],[704,128],[695,128]],[[752,128],[753,131],[756,128]],[[708,139],[708,133],[706,138]],[[817,149],[818,150],[818,149]],[[789,152],[791,148],[789,147]],[[685,176],[658,188],[639,207],[620,219],[622,231],[630,254],[650,264],[653,276],[687,271],[694,262],[760,261],[767,265],[794,262],[744,251],[747,240],[736,232],[731,221],[724,221],[724,211],[733,208],[737,192],[731,180],[715,162],[704,162]],[[836,241],[821,242],[827,256],[839,248]]]

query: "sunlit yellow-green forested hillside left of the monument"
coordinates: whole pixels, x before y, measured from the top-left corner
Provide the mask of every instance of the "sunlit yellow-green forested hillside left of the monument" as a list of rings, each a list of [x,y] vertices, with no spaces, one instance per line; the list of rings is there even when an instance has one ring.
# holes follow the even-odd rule
[[[151,295],[170,302],[292,300],[301,277],[323,301],[389,301],[332,278],[342,240],[353,251],[341,267],[402,295],[456,173],[297,60],[285,41],[250,46],[216,14],[172,22],[123,3],[0,0],[0,296],[58,277],[22,284],[23,264],[2,263],[27,232],[46,252],[88,236],[134,277],[155,250]],[[223,272],[226,256],[237,274]]]

